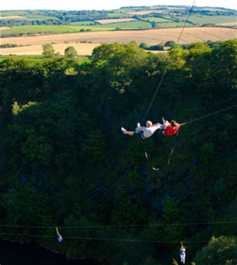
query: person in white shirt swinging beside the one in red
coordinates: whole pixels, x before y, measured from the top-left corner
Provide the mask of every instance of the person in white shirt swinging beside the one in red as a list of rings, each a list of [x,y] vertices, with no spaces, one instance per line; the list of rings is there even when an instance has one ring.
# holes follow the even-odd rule
[[[121,131],[123,134],[127,134],[130,136],[139,136],[142,139],[150,137],[156,130],[160,129],[160,123],[152,124],[151,121],[146,121],[146,126],[140,126],[140,123],[137,123],[135,131],[127,131],[123,127],[121,127]]]

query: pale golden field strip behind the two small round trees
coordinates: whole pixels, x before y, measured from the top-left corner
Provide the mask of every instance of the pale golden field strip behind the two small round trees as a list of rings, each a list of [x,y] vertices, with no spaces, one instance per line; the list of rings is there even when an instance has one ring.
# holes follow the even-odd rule
[[[56,52],[59,52],[61,55],[64,54],[64,50],[68,46],[73,46],[78,55],[89,55],[92,53],[94,47],[97,47],[98,43],[57,43],[52,44]],[[13,48],[4,48],[0,49],[0,55],[41,55],[42,54],[42,45],[32,45],[32,46],[23,46],[23,47],[13,47]]]

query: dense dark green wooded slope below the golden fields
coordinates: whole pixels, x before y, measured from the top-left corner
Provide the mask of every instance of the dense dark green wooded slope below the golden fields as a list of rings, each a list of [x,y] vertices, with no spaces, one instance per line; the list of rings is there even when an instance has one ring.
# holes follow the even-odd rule
[[[164,72],[148,120],[182,123],[236,104],[236,51],[236,39],[167,54],[131,42],[98,46],[82,64],[2,60],[1,238],[111,265],[178,264],[182,241],[186,264],[235,265],[236,108],[177,137],[141,140],[120,127],[142,121]]]

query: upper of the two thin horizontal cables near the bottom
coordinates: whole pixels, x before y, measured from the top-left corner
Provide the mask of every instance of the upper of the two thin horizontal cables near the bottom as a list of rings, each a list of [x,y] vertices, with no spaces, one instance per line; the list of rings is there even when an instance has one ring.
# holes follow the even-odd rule
[[[236,221],[229,222],[203,222],[203,223],[168,223],[168,224],[142,224],[142,225],[115,225],[115,226],[76,226],[64,227],[57,226],[60,229],[86,229],[86,228],[129,228],[129,227],[162,227],[162,226],[193,226],[193,225],[237,225]],[[0,225],[0,227],[9,228],[52,228],[55,226],[16,226],[16,225]]]

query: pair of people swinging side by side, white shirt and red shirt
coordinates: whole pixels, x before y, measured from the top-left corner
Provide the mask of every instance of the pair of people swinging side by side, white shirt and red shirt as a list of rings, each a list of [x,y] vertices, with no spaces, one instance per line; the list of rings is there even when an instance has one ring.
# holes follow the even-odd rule
[[[139,136],[142,139],[150,137],[156,130],[161,130],[162,134],[165,136],[171,136],[178,132],[180,124],[176,121],[171,120],[170,123],[162,118],[163,124],[155,123],[152,124],[151,121],[146,121],[146,126],[140,126],[137,123],[135,131],[127,131],[125,128],[121,127],[121,132],[130,136]]]

